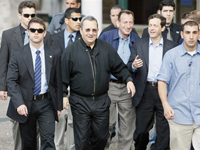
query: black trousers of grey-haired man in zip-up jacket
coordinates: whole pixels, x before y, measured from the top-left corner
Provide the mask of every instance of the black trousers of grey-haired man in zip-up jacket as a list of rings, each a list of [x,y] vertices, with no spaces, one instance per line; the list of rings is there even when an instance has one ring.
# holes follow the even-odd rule
[[[108,95],[91,101],[71,93],[69,100],[76,150],[104,150],[109,137]]]

